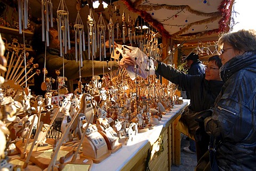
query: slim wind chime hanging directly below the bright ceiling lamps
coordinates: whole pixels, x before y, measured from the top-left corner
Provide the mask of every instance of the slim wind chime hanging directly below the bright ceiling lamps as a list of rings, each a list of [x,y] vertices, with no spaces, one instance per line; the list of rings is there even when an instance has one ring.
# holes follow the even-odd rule
[[[98,30],[98,36],[99,36],[100,61],[101,61],[102,54],[104,54],[104,58],[106,58],[106,44],[105,44],[106,25],[103,20],[102,14],[100,14],[100,18],[99,18],[98,25],[97,25],[97,30]],[[102,44],[103,44],[103,46],[102,46]],[[111,46],[109,46],[109,47],[111,47]]]

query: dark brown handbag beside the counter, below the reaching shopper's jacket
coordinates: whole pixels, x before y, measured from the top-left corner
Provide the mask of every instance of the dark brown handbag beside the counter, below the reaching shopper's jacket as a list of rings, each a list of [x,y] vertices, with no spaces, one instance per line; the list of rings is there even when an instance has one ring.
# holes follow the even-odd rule
[[[187,135],[188,138],[195,140],[195,131],[199,127],[199,124],[195,119],[204,116],[205,112],[206,110],[203,110],[202,112],[194,112],[189,109],[189,106],[186,107],[184,112],[181,114],[176,129]]]

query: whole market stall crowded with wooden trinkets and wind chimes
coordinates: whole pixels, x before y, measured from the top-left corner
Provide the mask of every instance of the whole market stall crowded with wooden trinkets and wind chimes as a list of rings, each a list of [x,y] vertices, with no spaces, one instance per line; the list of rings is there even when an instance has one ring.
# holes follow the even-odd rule
[[[189,100],[155,75],[154,61],[177,66],[185,42],[218,53],[211,42],[228,30],[233,1],[93,3],[0,1],[2,168],[180,164],[175,125]]]

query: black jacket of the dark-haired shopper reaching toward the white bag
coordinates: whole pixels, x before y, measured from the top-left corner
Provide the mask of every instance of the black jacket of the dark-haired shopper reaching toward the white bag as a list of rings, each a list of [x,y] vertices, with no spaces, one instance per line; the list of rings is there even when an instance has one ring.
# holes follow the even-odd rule
[[[190,109],[194,112],[210,109],[215,98],[218,96],[222,81],[205,80],[205,75],[189,75],[180,72],[170,65],[158,62],[156,72],[165,79],[179,84],[179,86],[190,93]]]

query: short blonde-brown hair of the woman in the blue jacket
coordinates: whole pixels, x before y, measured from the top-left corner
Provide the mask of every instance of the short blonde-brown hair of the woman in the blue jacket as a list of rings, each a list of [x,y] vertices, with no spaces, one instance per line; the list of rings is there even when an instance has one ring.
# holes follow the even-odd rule
[[[239,30],[222,35],[219,38],[218,44],[220,47],[223,44],[228,44],[234,50],[243,52],[256,51],[256,31],[255,30]]]

